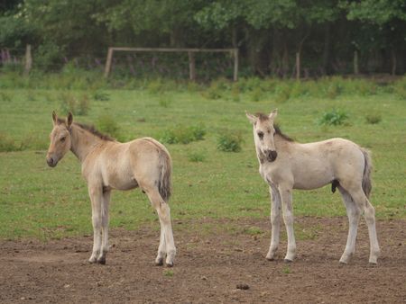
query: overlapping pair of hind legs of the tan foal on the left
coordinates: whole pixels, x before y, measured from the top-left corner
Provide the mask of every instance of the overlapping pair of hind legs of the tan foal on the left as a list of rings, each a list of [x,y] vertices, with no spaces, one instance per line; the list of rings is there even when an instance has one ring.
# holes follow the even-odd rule
[[[176,247],[171,227],[171,209],[168,203],[163,201],[158,189],[155,187],[143,187],[142,185],[141,187],[148,195],[148,198],[150,199],[153,208],[157,211],[161,222],[161,241],[155,263],[161,264],[161,259],[163,258],[164,253],[166,253],[166,265],[171,267],[173,266],[176,255]]]

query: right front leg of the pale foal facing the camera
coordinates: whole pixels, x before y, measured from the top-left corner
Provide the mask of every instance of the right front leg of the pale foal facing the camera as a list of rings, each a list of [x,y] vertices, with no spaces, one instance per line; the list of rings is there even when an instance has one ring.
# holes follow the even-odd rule
[[[293,230],[293,207],[291,203],[291,187],[279,187],[282,201],[283,221],[285,222],[288,235],[288,252],[285,256],[286,262],[291,262],[296,256],[296,240]]]

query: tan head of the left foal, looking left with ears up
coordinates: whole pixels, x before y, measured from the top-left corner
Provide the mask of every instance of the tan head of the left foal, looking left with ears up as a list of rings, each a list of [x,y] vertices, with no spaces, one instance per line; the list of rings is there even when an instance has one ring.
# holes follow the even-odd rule
[[[52,112],[53,129],[51,131],[51,143],[47,153],[47,164],[55,166],[60,159],[69,151],[70,141],[70,127],[72,125],[73,117],[69,112],[66,120],[58,118],[55,112]]]

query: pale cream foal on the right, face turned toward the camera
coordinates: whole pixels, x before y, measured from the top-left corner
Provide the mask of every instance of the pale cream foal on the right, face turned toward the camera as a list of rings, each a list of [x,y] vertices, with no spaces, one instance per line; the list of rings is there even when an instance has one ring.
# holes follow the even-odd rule
[[[371,192],[372,162],[369,152],[346,139],[328,139],[301,144],[281,133],[273,124],[277,111],[269,115],[246,113],[253,124],[259,171],[268,183],[272,197],[271,246],[266,258],[273,260],[279,246],[281,211],[288,236],[285,261],[296,256],[293,231],[292,190],[311,190],[332,184],[346,205],[349,231],[340,262],[347,264],[355,253],[359,217],[364,213],[370,239],[369,262],[377,263],[380,254],[375,228],[375,211],[368,197]]]

